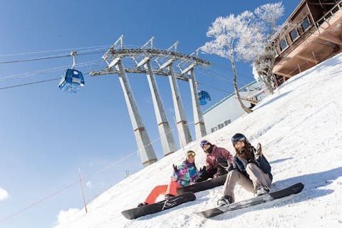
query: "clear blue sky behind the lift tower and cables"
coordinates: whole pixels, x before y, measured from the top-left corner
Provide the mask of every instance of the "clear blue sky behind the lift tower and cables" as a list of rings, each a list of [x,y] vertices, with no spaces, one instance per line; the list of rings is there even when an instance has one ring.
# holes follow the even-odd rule
[[[205,33],[217,16],[239,14],[269,2],[276,1],[1,2],[0,62],[103,46],[96,50],[100,53],[77,57],[77,63],[94,62],[92,66],[76,65],[78,70],[88,73],[91,69],[105,67],[100,57],[121,34],[125,34],[124,42],[128,47],[141,46],[155,36],[156,48],[168,48],[180,41],[178,51],[192,53],[209,41]],[[284,1],[283,4],[282,21],[299,1]],[[68,50],[51,52],[61,49]],[[47,52],[31,53],[41,51]],[[16,53],[26,54],[10,55]],[[200,57],[212,62],[212,68],[195,71],[201,84],[199,89],[207,90],[212,97],[211,103],[202,106],[202,110],[206,110],[232,93],[232,71],[227,60],[208,55]],[[78,168],[83,177],[88,177],[84,182],[91,182],[91,187],[85,186],[87,202],[122,180],[125,170],[142,168],[135,153],[137,146],[118,76],[90,78],[87,75],[86,86],[77,94],[59,91],[58,81],[4,89],[58,78],[63,67],[53,73],[24,78],[18,75],[61,66],[66,70],[71,63],[71,57],[0,63],[0,187],[9,192],[9,198],[0,202],[1,227],[51,227],[61,209],[81,208],[80,185],[68,187],[78,181]],[[237,71],[239,86],[253,80],[249,64],[239,63]],[[15,79],[5,81],[8,76],[15,76]],[[150,140],[155,141],[152,146],[161,158],[146,76],[129,75],[128,78],[147,133]],[[167,118],[175,129],[168,79],[157,76],[157,83]],[[190,87],[182,81],[178,86],[192,138],[195,138]],[[174,137],[178,141],[175,131]],[[127,155],[130,156],[120,161]],[[98,172],[104,167],[108,168]],[[35,204],[41,199],[43,202]],[[29,207],[31,204],[34,205]],[[9,219],[3,221],[7,217]]]

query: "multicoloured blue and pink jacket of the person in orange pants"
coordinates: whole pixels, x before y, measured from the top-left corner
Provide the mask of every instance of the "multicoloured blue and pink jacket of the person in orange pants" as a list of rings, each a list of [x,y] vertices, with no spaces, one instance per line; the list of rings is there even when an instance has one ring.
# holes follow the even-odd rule
[[[181,165],[177,165],[177,172],[173,172],[171,180],[176,181],[182,186],[190,185],[198,179],[200,173],[195,166],[195,163],[190,163],[185,160]]]

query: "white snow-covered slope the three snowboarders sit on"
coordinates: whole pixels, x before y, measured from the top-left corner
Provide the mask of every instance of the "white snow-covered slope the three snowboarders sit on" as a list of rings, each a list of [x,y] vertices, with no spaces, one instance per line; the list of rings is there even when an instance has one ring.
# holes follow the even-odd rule
[[[128,220],[120,212],[136,207],[155,185],[170,180],[172,164],[184,150],[197,151],[197,167],[204,165],[198,142],[179,150],[123,180],[84,210],[60,214],[62,227],[342,227],[342,55],[300,73],[262,100],[254,112],[205,137],[233,152],[230,138],[244,133],[261,142],[274,175],[272,190],[303,182],[299,195],[226,213],[214,219],[193,212],[216,205],[222,187],[196,193],[194,202],[158,214]],[[252,193],[236,188],[236,200]],[[67,216],[68,215],[68,216]]]

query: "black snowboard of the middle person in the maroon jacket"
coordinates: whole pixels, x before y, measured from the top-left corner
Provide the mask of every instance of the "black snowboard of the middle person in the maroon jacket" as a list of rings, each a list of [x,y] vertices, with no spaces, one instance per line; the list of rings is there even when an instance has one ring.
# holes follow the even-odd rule
[[[195,192],[200,192],[200,191],[204,191],[204,190],[209,190],[213,187],[224,185],[226,178],[227,178],[227,174],[216,177],[215,179],[212,179],[212,180],[205,180],[204,182],[198,182],[195,185],[188,185],[185,187],[180,187],[180,188],[177,188],[177,193],[178,194],[182,194],[184,192],[194,192],[195,193]]]

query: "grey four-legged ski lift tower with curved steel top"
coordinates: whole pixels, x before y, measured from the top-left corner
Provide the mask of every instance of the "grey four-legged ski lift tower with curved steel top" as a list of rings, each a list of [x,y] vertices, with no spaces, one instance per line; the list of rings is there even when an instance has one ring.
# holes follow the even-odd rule
[[[123,44],[123,35],[120,36],[120,38],[115,41],[113,46],[111,46],[102,57],[108,64],[105,70],[90,72],[90,76],[118,74],[120,84],[125,95],[128,113],[130,114],[130,120],[133,125],[140,159],[144,166],[157,161],[157,157],[152,148],[150,138],[145,130],[145,125],[142,122],[138,105],[135,102],[133,91],[130,88],[127,73],[145,73],[147,75],[164,155],[169,155],[170,153],[175,152],[175,150],[177,150],[177,146],[171,133],[169,122],[167,121],[164,106],[162,105],[160,93],[155,81],[155,75],[167,76],[169,78],[180,145],[187,145],[187,143],[192,141],[192,138],[187,125],[184,108],[182,107],[182,100],[176,79],[188,81],[190,83],[196,138],[202,138],[207,134],[204,127],[202,112],[199,108],[194,69],[196,66],[207,68],[210,66],[210,63],[197,58],[197,56],[185,55],[177,52],[178,42],[167,50],[155,49],[153,46],[153,40],[154,37],[150,38],[150,40],[141,46],[141,48],[125,48]],[[125,61],[125,63],[126,61],[130,61],[130,63],[133,63],[134,67],[126,68],[123,66],[123,61]],[[177,63],[179,69],[181,69],[181,66],[185,66],[185,70],[175,72],[173,68],[175,63]]]

